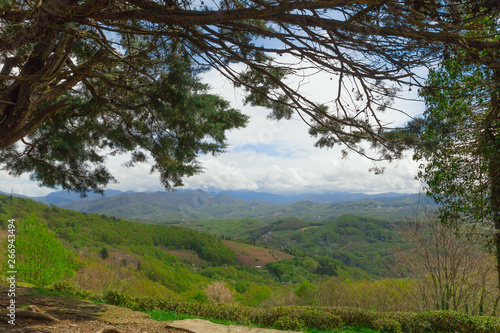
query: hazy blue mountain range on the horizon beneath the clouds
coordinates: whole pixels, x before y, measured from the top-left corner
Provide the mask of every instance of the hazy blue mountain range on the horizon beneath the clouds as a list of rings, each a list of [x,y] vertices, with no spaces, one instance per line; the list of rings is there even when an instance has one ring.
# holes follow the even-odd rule
[[[342,214],[370,216],[390,221],[413,215],[435,203],[419,194],[330,192],[324,194],[279,195],[251,191],[202,190],[174,192],[90,193],[86,198],[65,191],[33,200],[66,209],[98,213],[147,223],[179,223],[210,219],[255,218],[272,222],[294,216],[310,222],[334,220]]]

